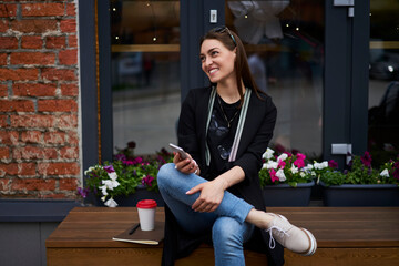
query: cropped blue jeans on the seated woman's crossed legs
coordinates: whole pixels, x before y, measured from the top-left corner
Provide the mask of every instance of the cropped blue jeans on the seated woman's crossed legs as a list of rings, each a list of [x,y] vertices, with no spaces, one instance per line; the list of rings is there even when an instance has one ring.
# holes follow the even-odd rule
[[[173,163],[165,164],[157,174],[157,184],[163,200],[171,208],[177,223],[190,233],[201,233],[212,228],[215,265],[245,265],[243,244],[254,231],[254,225],[245,218],[254,207],[229,192],[224,193],[221,205],[213,213],[197,213],[191,206],[198,198],[185,193],[194,186],[207,182],[195,174],[183,174]]]

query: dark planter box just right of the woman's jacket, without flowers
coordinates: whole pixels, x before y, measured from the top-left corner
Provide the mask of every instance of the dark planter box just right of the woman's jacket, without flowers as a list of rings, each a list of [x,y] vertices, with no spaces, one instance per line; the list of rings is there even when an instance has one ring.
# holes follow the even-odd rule
[[[296,187],[288,184],[265,186],[263,196],[266,206],[305,207],[309,205],[311,187],[315,182],[299,183]]]

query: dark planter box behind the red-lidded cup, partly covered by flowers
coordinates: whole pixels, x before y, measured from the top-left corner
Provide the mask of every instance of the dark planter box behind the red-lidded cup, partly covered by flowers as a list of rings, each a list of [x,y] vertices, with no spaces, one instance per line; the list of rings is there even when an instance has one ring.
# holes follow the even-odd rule
[[[114,201],[117,203],[119,207],[135,207],[137,205],[137,202],[140,202],[141,200],[154,200],[160,207],[163,207],[165,205],[160,192],[147,191],[145,187],[141,186],[139,186],[136,188],[136,192],[132,195],[114,197]],[[105,206],[100,197],[95,197],[94,205]]]

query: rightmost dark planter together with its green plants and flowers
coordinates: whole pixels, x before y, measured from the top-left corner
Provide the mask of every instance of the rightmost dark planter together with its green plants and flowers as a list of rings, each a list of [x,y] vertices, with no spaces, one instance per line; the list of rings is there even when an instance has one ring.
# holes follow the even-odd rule
[[[371,167],[371,155],[354,156],[344,172],[320,176],[325,206],[399,206],[399,161]]]

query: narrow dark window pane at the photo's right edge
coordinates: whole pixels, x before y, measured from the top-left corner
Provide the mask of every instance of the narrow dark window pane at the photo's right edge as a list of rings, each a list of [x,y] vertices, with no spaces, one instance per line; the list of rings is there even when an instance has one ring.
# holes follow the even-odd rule
[[[368,150],[381,165],[399,153],[399,2],[370,1]]]

